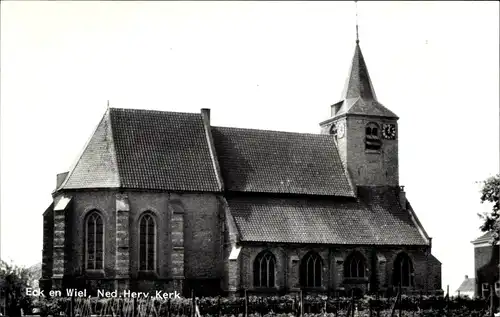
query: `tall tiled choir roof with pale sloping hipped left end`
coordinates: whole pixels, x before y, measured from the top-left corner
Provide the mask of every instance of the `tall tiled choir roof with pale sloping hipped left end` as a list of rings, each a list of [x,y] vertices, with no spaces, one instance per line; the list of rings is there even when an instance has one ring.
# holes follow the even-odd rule
[[[110,108],[60,189],[220,191],[200,114]]]

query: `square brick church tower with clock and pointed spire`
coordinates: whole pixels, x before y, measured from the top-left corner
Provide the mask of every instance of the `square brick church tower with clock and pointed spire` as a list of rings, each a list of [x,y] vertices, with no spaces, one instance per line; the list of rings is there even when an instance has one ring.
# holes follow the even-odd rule
[[[357,39],[341,101],[331,106],[331,118],[320,123],[321,133],[335,135],[355,185],[399,185],[397,120],[377,100]]]

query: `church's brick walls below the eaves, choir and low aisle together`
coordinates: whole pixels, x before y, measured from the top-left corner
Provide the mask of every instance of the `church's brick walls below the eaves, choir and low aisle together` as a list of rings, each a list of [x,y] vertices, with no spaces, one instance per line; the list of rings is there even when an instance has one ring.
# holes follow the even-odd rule
[[[186,288],[217,288],[237,291],[253,288],[253,261],[267,247],[277,259],[276,283],[279,291],[300,289],[300,263],[310,250],[316,251],[323,260],[322,291],[361,288],[368,291],[386,289],[392,284],[393,263],[397,254],[405,251],[414,264],[415,288],[431,291],[441,288],[441,265],[422,248],[390,247],[340,247],[299,246],[286,244],[243,245],[236,261],[228,261],[233,247],[225,243],[222,230],[224,209],[221,200],[213,194],[174,194],[152,192],[115,191],[75,192],[70,212],[67,213],[65,242],[67,245],[65,274],[81,276],[84,268],[84,220],[92,210],[98,210],[104,218],[105,227],[105,270],[104,274],[89,276],[100,281],[102,288],[117,287],[116,279],[127,280],[121,287],[137,290]],[[117,203],[123,200],[122,203]],[[126,201],[126,203],[125,203]],[[117,218],[121,205],[127,218]],[[122,207],[120,207],[122,208]],[[157,274],[144,275],[138,271],[138,225],[143,212],[150,211],[156,217],[157,225]],[[122,211],[119,212],[119,214]],[[44,274],[51,277],[49,254],[53,232],[53,215],[50,210],[44,217]],[[121,220],[120,220],[121,219]],[[127,220],[124,220],[127,219]],[[118,222],[117,222],[118,221]],[[123,222],[128,221],[127,232]],[[128,239],[117,252],[117,245]],[[123,241],[122,241],[123,240]],[[230,242],[230,241],[229,241]],[[312,248],[312,249],[311,249]],[[349,282],[344,278],[344,262],[352,251],[359,251],[366,259],[367,278]],[[376,251],[376,252],[375,252]],[[127,252],[127,256],[122,254]],[[488,251],[486,251],[488,252]],[[429,257],[432,257],[430,259]],[[486,255],[486,257],[488,257]],[[489,260],[489,257],[488,257]],[[128,266],[126,264],[128,263]],[[372,277],[375,274],[376,278]],[[226,279],[222,282],[223,277]],[[201,284],[200,284],[201,283]],[[201,286],[200,286],[201,285]]]

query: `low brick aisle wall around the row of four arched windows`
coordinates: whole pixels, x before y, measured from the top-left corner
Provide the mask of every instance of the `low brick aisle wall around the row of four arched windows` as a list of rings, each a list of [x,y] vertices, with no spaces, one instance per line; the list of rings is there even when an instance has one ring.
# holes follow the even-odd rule
[[[406,292],[434,292],[441,290],[441,264],[428,258],[426,250],[422,248],[384,248],[373,249],[371,247],[292,247],[264,245],[245,245],[241,251],[240,264],[240,289],[259,291],[253,286],[253,263],[257,255],[264,251],[271,251],[276,257],[276,291],[298,291],[300,263],[307,252],[317,252],[323,260],[322,287],[317,291],[341,290],[350,293],[354,288],[363,292],[375,289],[386,290],[394,288],[393,269],[394,261],[400,252],[408,254],[414,266],[414,286]],[[344,264],[351,252],[360,252],[365,257],[366,278],[362,280],[351,280],[345,278]],[[434,258],[433,258],[434,259]],[[372,277],[375,274],[376,278]],[[376,284],[372,285],[373,283]],[[377,288],[375,288],[377,287]],[[268,292],[269,290],[263,290]]]

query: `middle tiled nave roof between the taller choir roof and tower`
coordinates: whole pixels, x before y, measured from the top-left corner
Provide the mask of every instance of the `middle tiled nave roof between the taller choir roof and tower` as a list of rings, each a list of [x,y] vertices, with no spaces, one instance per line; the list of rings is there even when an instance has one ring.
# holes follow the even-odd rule
[[[354,197],[331,135],[212,127],[229,191]]]

